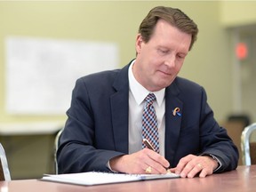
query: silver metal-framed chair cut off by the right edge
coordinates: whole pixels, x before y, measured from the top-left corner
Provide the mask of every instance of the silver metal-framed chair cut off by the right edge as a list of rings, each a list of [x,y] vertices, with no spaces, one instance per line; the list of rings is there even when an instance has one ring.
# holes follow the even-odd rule
[[[256,130],[256,123],[244,128],[241,135],[241,148],[244,165],[256,164],[256,141],[250,142],[252,132]]]

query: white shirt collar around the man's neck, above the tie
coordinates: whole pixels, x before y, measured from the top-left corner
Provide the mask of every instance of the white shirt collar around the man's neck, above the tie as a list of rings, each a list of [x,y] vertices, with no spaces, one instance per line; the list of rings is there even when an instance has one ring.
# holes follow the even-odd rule
[[[145,87],[143,87],[133,76],[132,67],[134,65],[134,62],[135,60],[132,61],[132,64],[130,65],[128,71],[129,87],[137,104],[140,105],[150,92],[147,89],[145,89]],[[156,95],[156,102],[158,106],[161,106],[164,101],[164,92],[165,89],[162,89],[157,92],[152,92]]]

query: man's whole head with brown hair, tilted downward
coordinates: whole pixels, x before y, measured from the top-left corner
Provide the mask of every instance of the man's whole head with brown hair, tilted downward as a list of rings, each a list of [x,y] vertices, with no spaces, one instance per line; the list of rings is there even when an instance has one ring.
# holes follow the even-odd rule
[[[193,20],[178,9],[156,7],[140,24],[136,39],[136,80],[150,92],[172,84],[196,41]]]

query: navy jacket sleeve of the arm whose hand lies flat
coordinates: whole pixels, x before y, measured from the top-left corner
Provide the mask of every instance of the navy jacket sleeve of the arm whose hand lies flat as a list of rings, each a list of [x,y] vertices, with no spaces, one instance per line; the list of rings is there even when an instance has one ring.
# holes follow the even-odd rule
[[[221,166],[217,172],[227,172],[236,169],[238,150],[224,127],[214,120],[212,108],[206,102],[206,93],[203,89],[203,116],[201,118],[202,152],[201,156],[213,155],[220,160]],[[209,127],[208,129],[206,127]]]

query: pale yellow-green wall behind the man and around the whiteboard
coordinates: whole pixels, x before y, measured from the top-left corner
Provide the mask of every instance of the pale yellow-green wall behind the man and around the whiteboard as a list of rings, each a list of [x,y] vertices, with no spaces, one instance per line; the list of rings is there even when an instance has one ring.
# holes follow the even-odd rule
[[[240,6],[243,7],[243,4],[241,2]],[[202,84],[208,92],[208,100],[217,120],[225,118],[232,112],[233,50],[225,28],[225,24],[231,22],[227,19],[227,4],[223,5],[220,1],[1,1],[0,123],[66,119],[65,114],[13,116],[6,113],[4,39],[7,36],[114,42],[119,47],[120,67],[123,67],[135,56],[135,36],[140,21],[156,5],[178,7],[198,24],[198,40],[180,76]],[[255,18],[252,15],[250,21]],[[224,19],[228,21],[223,22]]]

